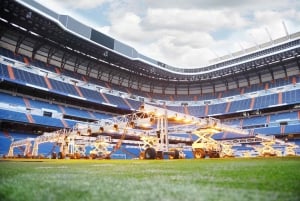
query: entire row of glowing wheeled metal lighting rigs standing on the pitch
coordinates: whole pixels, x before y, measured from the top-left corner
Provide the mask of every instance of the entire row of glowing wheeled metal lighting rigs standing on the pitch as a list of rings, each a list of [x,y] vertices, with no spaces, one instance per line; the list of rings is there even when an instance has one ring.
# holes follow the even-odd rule
[[[213,135],[221,132],[241,134],[241,138],[231,140],[212,138]],[[172,136],[180,133],[190,136],[194,134],[198,139],[193,141],[192,137]],[[260,146],[253,147],[260,156],[280,155],[279,151],[273,148],[274,144],[286,146],[286,155],[295,155],[295,146],[285,144],[274,136],[249,134],[247,130],[224,125],[215,118],[197,118],[146,104],[132,114],[92,123],[78,123],[73,129],[44,133],[36,139],[13,142],[8,155],[13,156],[13,148],[17,146],[26,146],[24,153],[28,155],[31,147],[28,142],[34,141],[33,157],[38,156],[40,144],[53,142],[60,148],[57,158],[110,158],[111,154],[119,150],[122,143],[127,141],[126,139],[140,141],[140,159],[163,159],[165,156],[170,159],[185,158],[182,151],[182,144],[185,143],[192,144],[192,152],[196,159],[234,157],[233,146],[237,143],[256,145],[260,143]],[[92,147],[89,153],[86,153],[87,146]],[[112,151],[108,151],[110,146],[113,147]]]

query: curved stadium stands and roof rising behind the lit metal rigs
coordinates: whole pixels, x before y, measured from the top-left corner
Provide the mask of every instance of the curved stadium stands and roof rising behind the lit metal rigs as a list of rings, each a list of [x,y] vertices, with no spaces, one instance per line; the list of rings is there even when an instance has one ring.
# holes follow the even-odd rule
[[[300,144],[300,33],[180,68],[35,1],[1,0],[0,30],[0,154],[143,103]]]

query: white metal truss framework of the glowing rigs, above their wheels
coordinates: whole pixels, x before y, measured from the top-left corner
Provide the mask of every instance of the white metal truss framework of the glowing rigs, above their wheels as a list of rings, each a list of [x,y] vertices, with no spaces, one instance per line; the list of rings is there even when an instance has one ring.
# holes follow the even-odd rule
[[[169,126],[169,121],[176,121],[176,125]],[[211,138],[212,135],[220,132],[238,133],[242,137],[218,141]],[[172,136],[169,134],[172,134]],[[187,134],[189,137],[174,136],[176,134]],[[199,138],[193,142],[190,137],[191,134],[195,134]],[[111,139],[112,136],[118,135],[119,139],[117,141],[116,139]],[[294,145],[276,139],[274,136],[265,136],[262,134],[250,135],[248,130],[224,125],[220,120],[215,118],[198,118],[145,104],[139,111],[132,114],[102,119],[93,123],[77,123],[73,129],[58,130],[52,133],[44,133],[35,139],[27,138],[12,142],[8,156],[13,156],[13,149],[21,146],[26,146],[24,156],[27,155],[30,153],[31,142],[33,141],[32,156],[38,156],[39,145],[46,142],[56,143],[60,147],[60,152],[69,155],[83,152],[85,146],[89,145],[98,147],[99,152],[108,153],[106,148],[114,144],[114,149],[111,152],[113,153],[121,147],[126,136],[134,137],[137,139],[136,141],[141,142],[145,146],[156,144],[156,149],[166,152],[169,149],[170,140],[178,144],[209,142],[208,144],[211,145],[221,145],[223,149],[226,146],[226,150],[230,150],[234,145],[258,143],[262,145],[271,143],[271,145],[279,144],[286,146],[289,147],[290,153],[292,153],[292,149],[295,149]],[[100,142],[103,143],[101,144]]]

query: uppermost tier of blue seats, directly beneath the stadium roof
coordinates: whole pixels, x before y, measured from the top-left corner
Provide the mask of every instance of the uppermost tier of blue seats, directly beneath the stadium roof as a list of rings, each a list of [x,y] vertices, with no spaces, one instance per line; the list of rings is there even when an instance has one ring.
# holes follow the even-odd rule
[[[258,91],[258,90],[265,90],[265,89],[269,89],[269,88],[292,84],[294,82],[293,77],[296,77],[295,81],[299,82],[299,80],[300,80],[299,76],[293,76],[289,79],[281,78],[281,79],[275,80],[274,82],[266,82],[263,84],[252,84],[249,87],[242,87],[240,89],[230,89],[230,90],[227,90],[224,92],[195,94],[195,95],[189,95],[189,96],[186,96],[186,95],[174,95],[173,96],[173,95],[162,95],[162,94],[141,92],[141,91],[135,90],[135,89],[130,89],[130,91],[129,91],[129,89],[127,89],[126,87],[116,86],[114,84],[108,85],[107,83],[97,80],[95,78],[86,77],[84,75],[80,75],[78,73],[74,73],[73,71],[69,71],[66,69],[61,70],[60,68],[55,67],[51,64],[45,64],[38,60],[31,60],[23,55],[19,55],[19,54],[16,55],[13,52],[11,52],[7,49],[4,49],[4,48],[0,48],[0,54],[4,55],[6,57],[12,58],[12,59],[16,59],[20,62],[29,63],[33,66],[40,67],[40,68],[43,68],[46,70],[50,70],[50,71],[52,71],[54,73],[58,73],[59,75],[62,75],[62,76],[72,77],[74,79],[78,79],[78,80],[85,81],[85,82],[90,82],[90,83],[100,85],[103,87],[108,87],[109,89],[124,91],[126,93],[130,93],[130,91],[131,91],[135,95],[140,95],[140,96],[143,96],[146,98],[154,98],[154,99],[158,99],[158,100],[167,100],[167,101],[195,101],[195,100],[218,99],[218,98],[224,98],[224,97],[233,96],[233,95],[239,95],[242,93],[251,93],[251,92]],[[4,71],[5,71],[5,69],[4,69]],[[23,81],[23,82],[26,82],[29,84],[36,84],[38,86],[46,87],[46,83],[45,83],[45,80],[43,79],[43,77],[33,76],[33,78],[31,78],[32,76],[29,74],[24,74],[23,72],[18,72],[18,70],[15,70],[15,71],[17,74],[16,76],[18,77],[18,79],[17,79],[18,81]],[[6,77],[9,77],[7,72],[3,72],[3,73],[5,74]],[[20,73],[23,75],[19,75]],[[28,76],[30,76],[30,78],[28,78]],[[53,81],[52,79],[50,79],[50,82],[56,82],[56,81]],[[58,84],[60,84],[60,83],[58,83]],[[61,92],[62,90],[66,90],[65,93],[80,96],[80,94],[78,94],[78,91],[75,90],[74,86],[72,86],[71,84],[67,84],[67,85],[63,84],[62,86],[57,86],[57,83],[54,83],[54,88],[56,90],[58,90],[58,92]],[[117,101],[120,101],[120,100],[117,100]],[[127,108],[126,105],[123,105],[122,101],[120,101],[120,107]],[[137,108],[135,108],[135,109],[137,109]]]

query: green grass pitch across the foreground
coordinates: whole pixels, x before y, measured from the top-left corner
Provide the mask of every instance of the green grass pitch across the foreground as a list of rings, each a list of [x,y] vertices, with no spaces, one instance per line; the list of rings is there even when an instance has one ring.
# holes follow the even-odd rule
[[[0,160],[0,200],[300,200],[300,158]]]

